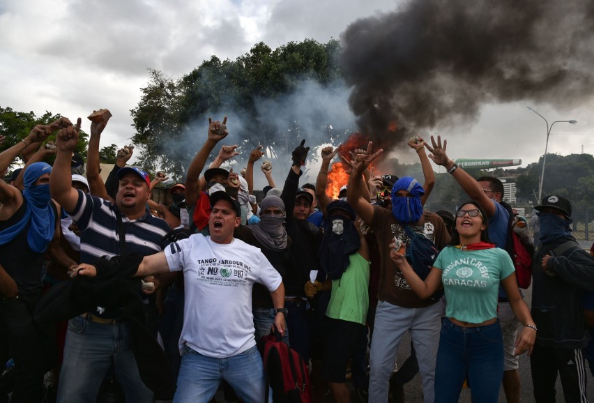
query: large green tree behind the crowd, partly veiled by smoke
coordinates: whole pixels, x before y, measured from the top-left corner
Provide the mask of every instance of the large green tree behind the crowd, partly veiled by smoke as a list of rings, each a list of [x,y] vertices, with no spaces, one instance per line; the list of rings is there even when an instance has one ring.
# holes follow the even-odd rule
[[[275,116],[265,116],[257,104],[280,100],[302,89],[307,80],[321,86],[342,80],[339,53],[337,40],[321,44],[308,39],[275,50],[258,43],[235,61],[212,56],[181,79],[150,70],[148,85],[141,89],[142,98],[130,111],[136,129],[132,141],[142,146],[139,164],[148,170],[160,167],[183,176],[197,144],[203,141],[208,117],[220,120],[224,114],[231,114],[229,119],[235,119],[234,123],[241,121],[241,128],[232,132],[228,141],[248,150],[264,144],[290,153],[303,135],[301,122],[284,122],[280,130],[273,123]],[[324,123],[320,116],[320,132]]]

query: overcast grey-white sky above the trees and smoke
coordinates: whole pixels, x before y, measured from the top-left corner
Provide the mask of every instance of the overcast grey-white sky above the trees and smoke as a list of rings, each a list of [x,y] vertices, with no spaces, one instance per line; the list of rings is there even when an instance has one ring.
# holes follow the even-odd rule
[[[272,48],[305,38],[324,43],[340,38],[352,22],[394,12],[400,3],[0,0],[0,105],[73,121],[108,108],[113,117],[102,146],[123,146],[134,134],[129,110],[139,102],[148,68],[180,77],[212,54],[235,59],[259,41]],[[556,123],[549,153],[581,153],[582,147],[594,153],[593,99],[577,108],[556,99],[483,105],[472,123],[434,134],[449,139],[452,158],[520,158],[526,165],[544,153],[546,139],[545,121],[526,109],[530,105],[549,123],[578,121]],[[83,122],[89,132],[90,122]]]

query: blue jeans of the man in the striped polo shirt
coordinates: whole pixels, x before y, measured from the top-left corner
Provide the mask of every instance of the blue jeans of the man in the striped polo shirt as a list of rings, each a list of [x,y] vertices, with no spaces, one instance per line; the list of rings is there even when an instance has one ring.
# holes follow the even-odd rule
[[[70,319],[58,402],[95,402],[112,363],[126,402],[153,402],[153,392],[140,379],[130,341],[130,324],[126,322],[96,324],[84,317]]]

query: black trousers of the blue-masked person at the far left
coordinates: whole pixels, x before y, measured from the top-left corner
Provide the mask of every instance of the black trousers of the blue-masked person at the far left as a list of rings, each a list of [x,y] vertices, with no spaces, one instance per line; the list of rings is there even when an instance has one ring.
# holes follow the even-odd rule
[[[0,332],[5,333],[15,360],[15,384],[10,402],[39,402],[43,375],[56,363],[53,330],[33,321],[37,296],[18,296],[0,301]]]

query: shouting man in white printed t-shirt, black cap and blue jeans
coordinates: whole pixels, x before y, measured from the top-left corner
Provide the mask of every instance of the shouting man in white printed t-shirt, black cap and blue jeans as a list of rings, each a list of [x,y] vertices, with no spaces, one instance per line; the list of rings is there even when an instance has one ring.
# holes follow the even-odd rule
[[[185,307],[179,341],[183,354],[174,402],[208,402],[221,379],[244,402],[264,402],[264,368],[256,348],[252,286],[264,284],[284,333],[284,285],[264,254],[233,237],[241,208],[227,192],[211,195],[210,236],[194,234],[144,257],[135,276],[183,271]],[[79,275],[95,275],[82,264]]]

